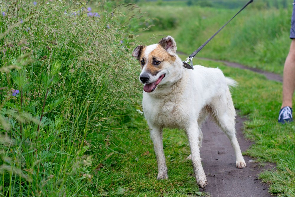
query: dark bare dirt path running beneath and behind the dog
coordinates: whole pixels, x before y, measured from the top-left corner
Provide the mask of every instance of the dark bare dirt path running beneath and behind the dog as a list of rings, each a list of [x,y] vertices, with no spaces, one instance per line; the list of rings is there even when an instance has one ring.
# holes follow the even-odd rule
[[[249,68],[241,64],[207,58],[200,59],[223,62],[230,67],[248,69],[263,74],[269,80],[283,81],[282,77],[278,74]],[[236,117],[237,139],[242,152],[246,151],[252,144],[250,141],[245,140],[242,134],[243,121],[245,119]],[[263,170],[274,168],[275,166],[273,164],[260,167],[259,163],[253,162],[253,158],[244,156],[247,167],[238,169],[235,167],[235,155],[230,140],[216,124],[206,121],[203,124],[202,131],[203,142],[200,150],[203,168],[208,179],[208,186],[205,191],[209,192],[211,197],[271,196],[268,193],[268,185],[258,179],[258,174]]]

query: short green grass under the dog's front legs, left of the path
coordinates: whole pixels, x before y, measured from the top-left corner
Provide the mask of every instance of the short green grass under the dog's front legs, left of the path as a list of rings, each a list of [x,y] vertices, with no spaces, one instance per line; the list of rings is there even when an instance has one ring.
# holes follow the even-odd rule
[[[196,187],[191,162],[185,160],[189,148],[184,132],[164,131],[163,143],[169,166],[169,180],[158,181],[153,144],[146,122],[142,116],[137,121],[142,125],[129,128],[122,135],[124,143],[121,146],[127,154],[112,155],[111,159],[117,158],[118,164],[104,169],[105,173],[101,174],[102,183],[110,181],[109,185],[101,184],[101,187],[105,187],[102,190],[114,189],[117,195],[118,191],[122,191],[122,196],[206,195]]]

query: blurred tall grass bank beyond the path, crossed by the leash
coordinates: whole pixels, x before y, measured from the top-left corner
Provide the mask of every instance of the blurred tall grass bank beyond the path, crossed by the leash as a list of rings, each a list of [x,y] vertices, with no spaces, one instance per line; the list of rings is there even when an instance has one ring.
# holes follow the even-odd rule
[[[199,56],[236,61],[282,74],[283,63],[291,43],[291,10],[244,10],[200,52]],[[212,10],[206,13],[210,12]],[[194,25],[189,25],[188,31],[179,31],[176,36],[179,42],[187,43],[180,49],[189,54],[227,22],[235,11],[217,10],[209,16],[203,14],[204,11],[195,13],[197,19],[190,18],[187,22]],[[199,23],[196,24],[196,20]],[[184,29],[185,26],[180,28]]]

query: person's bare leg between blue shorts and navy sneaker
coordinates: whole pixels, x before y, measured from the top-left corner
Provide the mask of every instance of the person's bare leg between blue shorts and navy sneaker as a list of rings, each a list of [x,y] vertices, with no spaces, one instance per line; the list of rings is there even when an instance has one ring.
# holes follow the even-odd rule
[[[283,72],[283,103],[281,108],[292,108],[292,97],[295,89],[295,39],[292,39],[290,51],[286,58]]]

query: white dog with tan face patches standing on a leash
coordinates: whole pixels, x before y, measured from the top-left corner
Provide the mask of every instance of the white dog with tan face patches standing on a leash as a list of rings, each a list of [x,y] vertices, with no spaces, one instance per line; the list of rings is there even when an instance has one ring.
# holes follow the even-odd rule
[[[246,167],[235,135],[235,108],[229,89],[236,82],[218,68],[196,65],[193,70],[186,69],[176,49],[174,38],[167,36],[158,44],[139,45],[132,52],[141,66],[142,108],[157,157],[158,180],[168,179],[162,129],[179,128],[189,139],[191,154],[187,159],[192,160],[196,183],[205,189],[208,183],[199,148],[201,124],[209,115],[230,139],[236,167]]]

